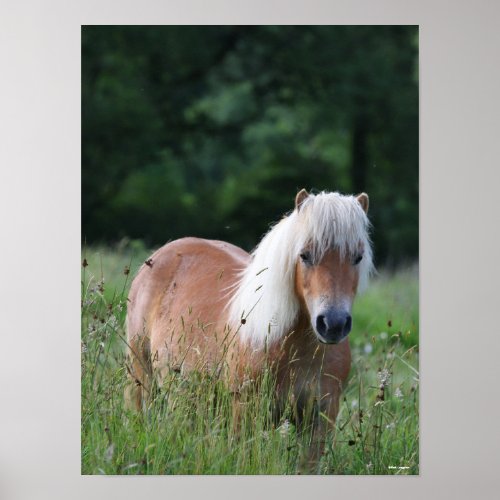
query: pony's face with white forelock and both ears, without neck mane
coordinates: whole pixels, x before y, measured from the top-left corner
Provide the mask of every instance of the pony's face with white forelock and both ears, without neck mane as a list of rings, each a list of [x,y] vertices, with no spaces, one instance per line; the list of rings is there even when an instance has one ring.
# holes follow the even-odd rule
[[[295,198],[295,211],[304,229],[295,247],[295,290],[318,340],[337,344],[351,331],[358,284],[372,266],[368,196],[313,196],[303,189]]]

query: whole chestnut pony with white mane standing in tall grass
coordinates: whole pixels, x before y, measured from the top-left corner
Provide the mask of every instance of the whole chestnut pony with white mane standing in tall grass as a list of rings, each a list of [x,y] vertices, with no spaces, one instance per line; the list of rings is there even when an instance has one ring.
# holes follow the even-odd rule
[[[214,370],[239,393],[271,361],[277,407],[291,394],[300,415],[313,398],[327,417],[316,418],[321,441],[350,369],[354,296],[372,269],[367,210],[365,193],[302,190],[250,255],[197,238],[160,248],[130,290],[129,403],[141,408],[153,373],[161,384],[169,370]]]

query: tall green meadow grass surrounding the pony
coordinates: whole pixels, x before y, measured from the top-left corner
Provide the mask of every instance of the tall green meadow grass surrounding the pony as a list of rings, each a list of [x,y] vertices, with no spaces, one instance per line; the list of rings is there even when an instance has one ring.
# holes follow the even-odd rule
[[[295,474],[308,430],[270,418],[270,387],[238,434],[231,395],[208,376],[173,375],[147,411],[124,409],[126,297],[150,254],[141,243],[83,250],[82,473]],[[418,270],[380,272],[353,311],[353,364],[321,474],[418,474]],[[334,442],[334,444],[333,444]]]

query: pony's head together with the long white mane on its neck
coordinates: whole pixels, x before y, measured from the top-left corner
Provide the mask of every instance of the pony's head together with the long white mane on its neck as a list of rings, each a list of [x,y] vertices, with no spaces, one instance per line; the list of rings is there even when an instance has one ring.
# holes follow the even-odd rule
[[[335,344],[351,330],[351,308],[372,270],[368,196],[304,189],[295,209],[252,253],[230,302],[243,340],[274,342],[307,317],[317,339]]]

